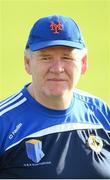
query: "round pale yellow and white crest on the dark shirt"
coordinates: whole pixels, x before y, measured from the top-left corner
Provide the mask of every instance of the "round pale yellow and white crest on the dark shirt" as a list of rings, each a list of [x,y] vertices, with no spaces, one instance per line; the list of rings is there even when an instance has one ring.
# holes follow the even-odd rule
[[[99,136],[91,134],[88,138],[87,144],[90,149],[96,153],[100,153],[103,148],[103,141]]]

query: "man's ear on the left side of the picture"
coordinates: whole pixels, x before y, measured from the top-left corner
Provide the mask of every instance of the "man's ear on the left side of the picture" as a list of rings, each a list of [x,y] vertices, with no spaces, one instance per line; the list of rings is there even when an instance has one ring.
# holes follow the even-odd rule
[[[31,74],[31,58],[27,55],[24,55],[24,66],[28,74]]]

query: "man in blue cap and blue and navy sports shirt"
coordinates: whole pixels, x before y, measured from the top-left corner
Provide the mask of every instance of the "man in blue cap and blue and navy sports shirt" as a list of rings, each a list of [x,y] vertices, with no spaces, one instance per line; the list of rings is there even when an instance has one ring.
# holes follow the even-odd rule
[[[39,19],[24,59],[32,82],[0,105],[0,178],[110,178],[110,110],[76,89],[87,70],[77,24]]]

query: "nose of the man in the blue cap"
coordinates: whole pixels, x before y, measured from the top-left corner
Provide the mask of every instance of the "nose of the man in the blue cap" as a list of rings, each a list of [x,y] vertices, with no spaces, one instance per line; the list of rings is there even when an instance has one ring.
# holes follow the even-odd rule
[[[55,60],[51,63],[50,72],[62,73],[64,72],[64,64],[61,60]]]

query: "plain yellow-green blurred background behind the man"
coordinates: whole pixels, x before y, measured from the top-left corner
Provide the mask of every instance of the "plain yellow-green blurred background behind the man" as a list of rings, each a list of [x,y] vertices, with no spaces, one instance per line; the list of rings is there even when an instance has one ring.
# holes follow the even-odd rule
[[[78,88],[110,105],[110,0],[0,0],[0,100],[31,81],[24,47],[33,23],[51,14],[71,16],[79,24],[89,66]]]

